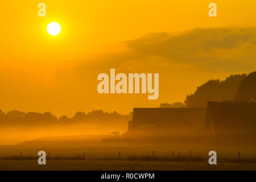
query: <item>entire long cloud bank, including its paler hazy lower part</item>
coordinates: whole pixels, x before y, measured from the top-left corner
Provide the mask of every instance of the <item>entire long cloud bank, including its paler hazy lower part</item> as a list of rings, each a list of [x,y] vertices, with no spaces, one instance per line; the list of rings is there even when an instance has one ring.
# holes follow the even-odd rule
[[[256,66],[256,28],[196,28],[177,35],[158,32],[123,44],[126,51],[89,55],[77,60],[76,68],[164,69],[180,64],[239,72]]]

